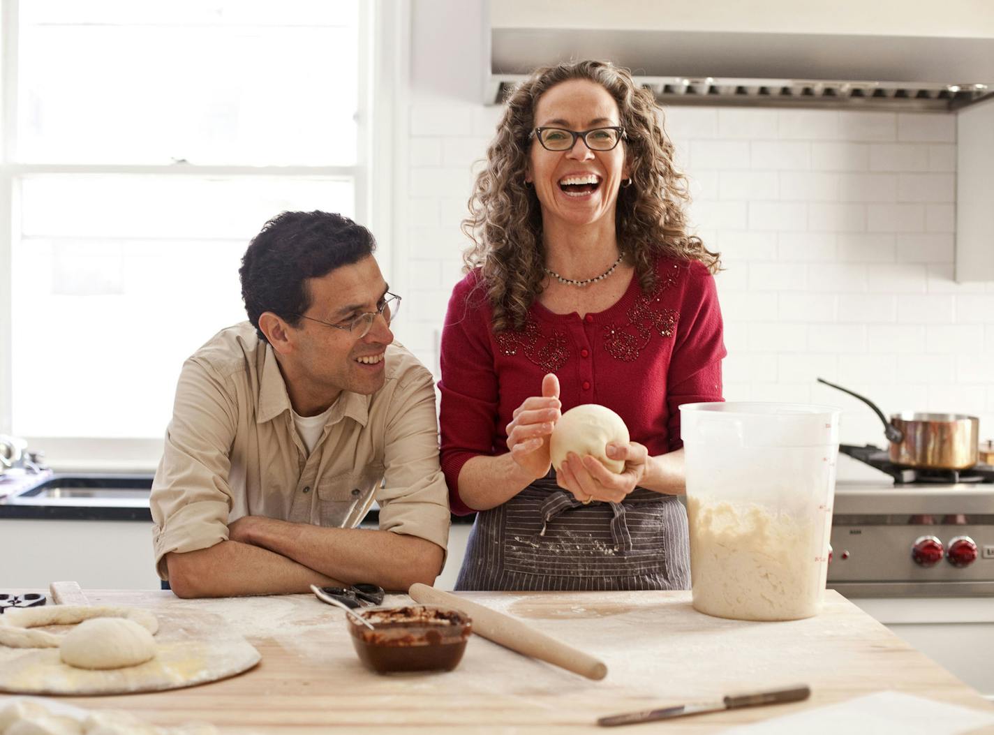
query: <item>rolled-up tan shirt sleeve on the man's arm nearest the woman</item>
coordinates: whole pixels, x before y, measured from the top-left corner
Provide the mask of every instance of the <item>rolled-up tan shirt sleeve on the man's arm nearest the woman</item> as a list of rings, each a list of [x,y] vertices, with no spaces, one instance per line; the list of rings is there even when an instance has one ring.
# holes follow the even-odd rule
[[[446,549],[449,510],[438,465],[434,382],[420,365],[398,378],[387,420],[384,486],[376,493],[380,529]]]

